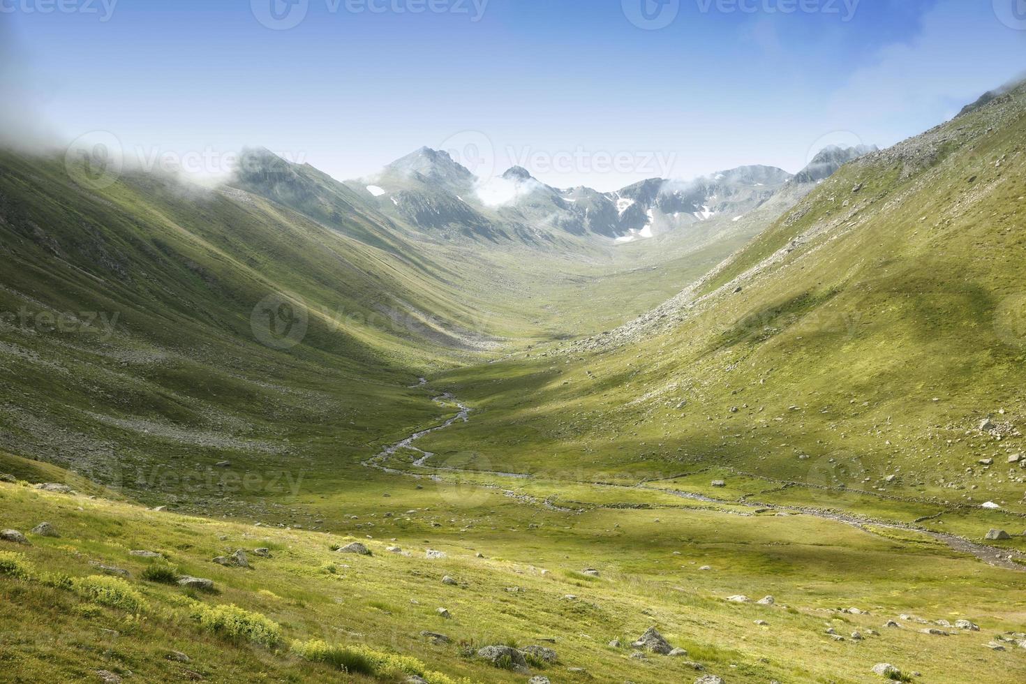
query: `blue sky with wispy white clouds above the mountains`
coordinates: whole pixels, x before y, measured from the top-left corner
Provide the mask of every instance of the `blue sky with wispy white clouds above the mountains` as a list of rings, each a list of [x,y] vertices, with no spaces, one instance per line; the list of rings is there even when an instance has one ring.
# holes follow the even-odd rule
[[[1026,72],[1026,0],[0,0],[8,136],[620,189],[885,147]]]

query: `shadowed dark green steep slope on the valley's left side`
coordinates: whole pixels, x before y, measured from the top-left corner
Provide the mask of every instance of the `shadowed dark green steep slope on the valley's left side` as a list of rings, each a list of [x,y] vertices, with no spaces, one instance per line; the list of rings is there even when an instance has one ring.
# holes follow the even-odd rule
[[[312,170],[263,178],[332,228],[235,188],[129,173],[94,191],[0,155],[6,448],[166,497],[188,484],[150,490],[148,469],[337,458],[436,414],[402,388],[489,346],[469,332],[488,322],[367,214],[332,223],[347,200]],[[289,443],[307,424],[329,449]]]

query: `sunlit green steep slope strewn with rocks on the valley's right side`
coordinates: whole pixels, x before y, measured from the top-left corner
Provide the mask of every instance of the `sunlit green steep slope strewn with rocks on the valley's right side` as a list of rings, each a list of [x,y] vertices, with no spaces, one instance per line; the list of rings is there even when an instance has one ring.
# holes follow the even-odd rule
[[[482,414],[424,448],[577,480],[720,469],[790,483],[770,500],[1018,528],[1024,147],[1019,85],[847,164],[633,324],[450,375]]]

